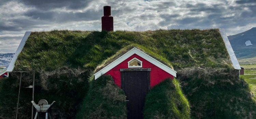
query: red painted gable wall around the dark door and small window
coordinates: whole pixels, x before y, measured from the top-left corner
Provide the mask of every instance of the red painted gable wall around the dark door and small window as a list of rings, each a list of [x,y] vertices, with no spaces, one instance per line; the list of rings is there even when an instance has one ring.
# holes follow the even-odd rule
[[[160,82],[164,81],[167,78],[173,79],[173,75],[167,73],[166,71],[160,69],[159,67],[155,66],[154,64],[146,61],[144,58],[140,57],[137,54],[133,54],[129,58],[127,58],[122,63],[115,66],[113,69],[109,70],[105,73],[105,75],[111,75],[114,79],[114,82],[117,86],[121,87],[121,73],[120,69],[128,69],[128,63],[131,59],[136,57],[140,61],[142,61],[142,68],[151,68],[150,72],[150,87],[154,87],[155,85],[159,84]]]

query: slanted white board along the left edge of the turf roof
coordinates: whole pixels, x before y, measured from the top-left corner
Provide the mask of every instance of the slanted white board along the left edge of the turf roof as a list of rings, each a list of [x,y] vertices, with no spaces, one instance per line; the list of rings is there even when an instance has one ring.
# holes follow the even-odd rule
[[[14,65],[15,65],[15,62],[16,62],[16,60],[17,60],[17,58],[18,58],[18,55],[19,55],[19,53],[22,51],[22,49],[23,49],[23,47],[24,47],[24,45],[25,45],[25,43],[26,43],[26,41],[27,41],[27,39],[28,39],[28,37],[29,37],[30,34],[31,34],[31,31],[27,31],[27,32],[24,34],[24,36],[23,36],[23,38],[22,38],[22,41],[20,41],[19,47],[17,48],[17,50],[16,50],[16,52],[15,52],[13,58],[12,58],[12,61],[11,61],[11,63],[9,64],[9,66],[8,66],[6,72],[12,72],[12,70],[13,70],[13,68],[14,68]]]

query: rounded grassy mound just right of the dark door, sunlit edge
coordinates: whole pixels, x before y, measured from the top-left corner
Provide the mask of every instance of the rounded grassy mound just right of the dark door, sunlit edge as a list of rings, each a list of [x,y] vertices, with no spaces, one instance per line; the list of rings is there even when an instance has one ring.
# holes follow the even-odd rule
[[[179,82],[167,79],[151,89],[143,115],[145,119],[189,119],[189,104]]]

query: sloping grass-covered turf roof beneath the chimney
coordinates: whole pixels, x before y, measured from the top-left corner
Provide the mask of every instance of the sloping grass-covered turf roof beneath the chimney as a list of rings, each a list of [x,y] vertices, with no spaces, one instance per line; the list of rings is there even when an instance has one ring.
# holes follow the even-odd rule
[[[62,66],[95,70],[104,60],[120,49],[128,49],[129,45],[139,46],[175,70],[191,66],[232,67],[218,29],[144,32],[66,30],[32,32],[14,70],[51,71]]]

